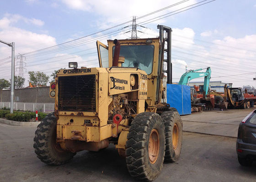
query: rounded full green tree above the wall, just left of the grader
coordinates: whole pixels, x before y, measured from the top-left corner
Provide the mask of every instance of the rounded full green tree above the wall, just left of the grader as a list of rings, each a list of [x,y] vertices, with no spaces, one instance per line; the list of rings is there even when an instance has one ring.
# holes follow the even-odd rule
[[[36,87],[36,102],[37,102],[37,94],[39,87],[46,86],[49,81],[49,76],[40,71],[28,71],[29,74],[29,82],[31,82],[32,86]]]

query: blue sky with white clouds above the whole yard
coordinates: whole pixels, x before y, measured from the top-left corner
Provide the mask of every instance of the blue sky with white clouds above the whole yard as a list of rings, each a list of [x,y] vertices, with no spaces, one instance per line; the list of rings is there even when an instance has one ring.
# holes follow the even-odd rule
[[[211,67],[211,81],[256,86],[256,0],[1,0],[0,40],[15,42],[15,74],[21,54],[28,86],[28,71],[98,67],[96,40],[130,38],[133,16],[139,38],[157,37],[158,24],[172,28],[174,82],[186,66]],[[2,43],[1,78],[11,78],[11,47]]]

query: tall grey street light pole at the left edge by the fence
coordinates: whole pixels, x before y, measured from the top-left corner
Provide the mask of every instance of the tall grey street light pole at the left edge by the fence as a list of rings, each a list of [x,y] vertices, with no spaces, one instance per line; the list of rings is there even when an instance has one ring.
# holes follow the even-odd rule
[[[13,95],[14,95],[14,74],[15,74],[15,62],[14,62],[14,42],[8,43],[3,40],[0,40],[3,44],[6,44],[11,47],[11,108],[10,113],[13,113]]]

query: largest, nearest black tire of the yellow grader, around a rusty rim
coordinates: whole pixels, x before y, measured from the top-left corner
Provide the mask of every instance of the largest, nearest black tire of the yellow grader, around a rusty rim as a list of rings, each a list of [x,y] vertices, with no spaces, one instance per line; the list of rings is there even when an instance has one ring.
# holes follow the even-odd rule
[[[155,129],[159,134],[159,152],[155,163],[149,160],[149,136]],[[163,167],[165,156],[164,124],[161,116],[153,112],[138,114],[131,123],[126,142],[126,164],[132,177],[155,180]]]

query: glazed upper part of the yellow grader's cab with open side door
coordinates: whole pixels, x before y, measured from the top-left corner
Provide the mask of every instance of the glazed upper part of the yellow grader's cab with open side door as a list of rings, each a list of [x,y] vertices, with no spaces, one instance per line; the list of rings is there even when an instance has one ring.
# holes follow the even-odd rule
[[[138,39],[136,44],[134,42],[130,43],[130,40],[119,41],[121,44],[119,56],[125,58],[122,67],[139,68],[150,75],[153,72],[154,58],[158,59],[158,57],[154,56],[158,55],[155,51],[159,51],[159,46],[155,47],[155,44],[157,42],[159,45],[159,39]],[[112,66],[116,48],[113,40],[108,40],[107,42],[109,46],[97,41],[99,65],[104,68]]]

